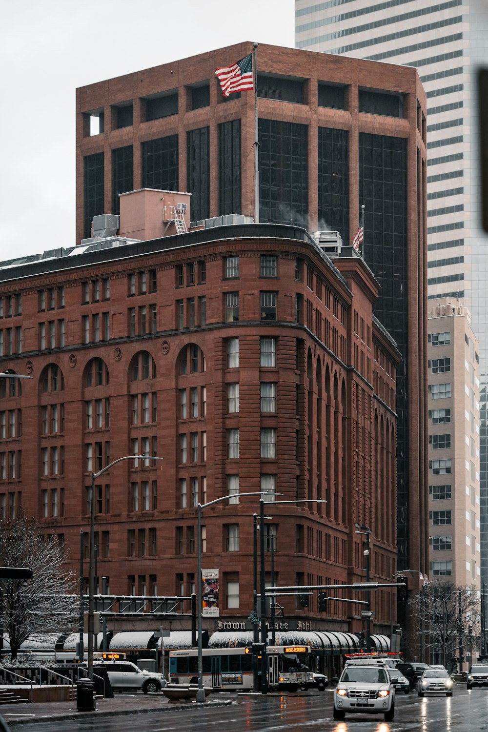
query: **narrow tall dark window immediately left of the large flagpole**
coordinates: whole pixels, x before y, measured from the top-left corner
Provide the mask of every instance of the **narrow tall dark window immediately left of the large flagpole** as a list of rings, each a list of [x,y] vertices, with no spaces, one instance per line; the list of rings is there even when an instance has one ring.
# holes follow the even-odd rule
[[[219,216],[241,213],[241,120],[219,124]]]

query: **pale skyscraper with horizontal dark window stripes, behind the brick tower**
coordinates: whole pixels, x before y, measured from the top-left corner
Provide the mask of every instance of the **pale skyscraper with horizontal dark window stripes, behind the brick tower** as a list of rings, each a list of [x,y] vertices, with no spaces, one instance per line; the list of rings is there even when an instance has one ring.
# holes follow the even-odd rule
[[[481,231],[476,70],[487,62],[482,0],[296,0],[296,46],[417,68],[427,92],[428,297],[469,308],[480,358],[481,581],[488,581],[487,236]],[[367,231],[368,231],[367,220]]]

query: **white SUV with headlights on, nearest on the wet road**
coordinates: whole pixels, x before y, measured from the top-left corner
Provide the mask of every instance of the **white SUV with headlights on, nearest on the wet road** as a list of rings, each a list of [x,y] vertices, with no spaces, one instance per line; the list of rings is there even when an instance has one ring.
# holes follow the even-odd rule
[[[345,713],[384,714],[391,722],[395,714],[395,688],[382,660],[346,662],[334,692],[334,720]]]

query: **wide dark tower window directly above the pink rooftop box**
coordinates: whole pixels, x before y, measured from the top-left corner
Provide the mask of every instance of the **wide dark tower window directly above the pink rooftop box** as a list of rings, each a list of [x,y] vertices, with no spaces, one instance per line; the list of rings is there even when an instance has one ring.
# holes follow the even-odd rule
[[[142,143],[142,186],[178,190],[178,135]]]

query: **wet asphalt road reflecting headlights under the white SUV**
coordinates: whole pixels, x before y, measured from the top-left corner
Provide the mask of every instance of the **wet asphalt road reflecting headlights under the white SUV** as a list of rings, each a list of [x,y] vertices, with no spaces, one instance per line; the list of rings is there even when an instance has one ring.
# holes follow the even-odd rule
[[[51,720],[25,724],[10,717],[12,732],[488,732],[488,689],[454,689],[452,698],[397,694],[395,718],[347,715],[332,719],[333,690],[290,696],[231,698],[232,706],[124,714],[98,719]],[[20,710],[19,710],[20,711]]]

